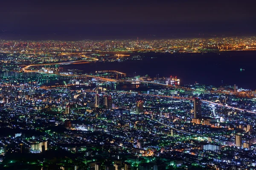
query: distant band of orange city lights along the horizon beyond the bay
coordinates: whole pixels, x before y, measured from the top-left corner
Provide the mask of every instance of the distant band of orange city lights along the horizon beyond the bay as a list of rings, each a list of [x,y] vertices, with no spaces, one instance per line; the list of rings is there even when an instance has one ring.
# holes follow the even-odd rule
[[[151,50],[163,52],[205,52],[256,50],[256,37],[212,37],[171,39],[171,40],[84,40],[84,41],[21,41],[0,40],[2,52],[19,52],[22,54],[59,51],[137,51]]]

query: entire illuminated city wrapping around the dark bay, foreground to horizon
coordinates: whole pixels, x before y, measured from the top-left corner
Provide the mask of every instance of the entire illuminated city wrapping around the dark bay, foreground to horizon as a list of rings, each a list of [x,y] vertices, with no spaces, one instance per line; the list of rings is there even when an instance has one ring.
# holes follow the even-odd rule
[[[0,40],[0,169],[255,170],[255,89],[76,68],[249,50],[256,37]]]

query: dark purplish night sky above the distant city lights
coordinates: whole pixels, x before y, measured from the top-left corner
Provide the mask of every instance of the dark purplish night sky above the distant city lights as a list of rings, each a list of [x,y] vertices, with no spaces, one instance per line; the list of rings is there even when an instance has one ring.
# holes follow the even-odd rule
[[[195,37],[256,34],[253,1],[1,0],[3,38]]]

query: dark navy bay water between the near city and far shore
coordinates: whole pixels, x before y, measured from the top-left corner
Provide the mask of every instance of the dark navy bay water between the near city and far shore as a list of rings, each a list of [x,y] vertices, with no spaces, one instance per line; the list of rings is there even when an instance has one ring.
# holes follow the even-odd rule
[[[256,51],[230,51],[220,53],[132,53],[141,56],[139,60],[123,62],[93,62],[64,65],[65,69],[79,69],[84,72],[116,70],[128,76],[150,77],[177,76],[181,85],[195,82],[206,85],[234,85],[244,89],[256,89]],[[129,58],[129,57],[128,57]]]

